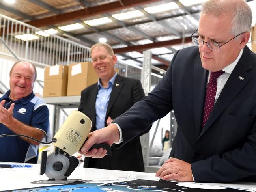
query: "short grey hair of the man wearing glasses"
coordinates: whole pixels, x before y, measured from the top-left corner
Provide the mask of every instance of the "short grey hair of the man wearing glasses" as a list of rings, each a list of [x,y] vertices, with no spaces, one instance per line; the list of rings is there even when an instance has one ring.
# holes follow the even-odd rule
[[[244,0],[209,0],[202,4],[201,14],[213,14],[217,17],[230,14],[233,18],[230,31],[232,35],[250,32],[252,10]]]

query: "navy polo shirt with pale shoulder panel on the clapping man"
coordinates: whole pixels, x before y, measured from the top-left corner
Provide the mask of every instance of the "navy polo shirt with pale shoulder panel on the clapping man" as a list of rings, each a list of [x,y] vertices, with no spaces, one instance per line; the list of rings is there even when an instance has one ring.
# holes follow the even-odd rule
[[[30,93],[30,95],[11,101],[10,91],[7,91],[0,99],[6,100],[4,107],[9,108],[15,103],[13,117],[22,123],[35,127],[47,133],[49,126],[49,110],[43,99]],[[0,123],[0,134],[14,133],[8,127]],[[4,162],[26,162],[37,157],[38,145],[31,145],[20,137],[8,136],[0,138],[0,161]]]

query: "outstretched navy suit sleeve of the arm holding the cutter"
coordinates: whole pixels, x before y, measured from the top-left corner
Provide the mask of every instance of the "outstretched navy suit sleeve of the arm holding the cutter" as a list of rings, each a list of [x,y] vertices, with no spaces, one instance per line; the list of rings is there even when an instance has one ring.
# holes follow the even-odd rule
[[[176,52],[172,63],[178,52]],[[121,127],[122,145],[141,134],[153,122],[166,116],[172,110],[172,63],[148,96],[135,103],[127,112],[113,121]]]

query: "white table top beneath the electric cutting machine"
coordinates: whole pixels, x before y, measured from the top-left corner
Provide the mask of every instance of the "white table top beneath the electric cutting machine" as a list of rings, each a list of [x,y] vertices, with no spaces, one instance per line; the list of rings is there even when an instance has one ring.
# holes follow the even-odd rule
[[[0,162],[1,164],[1,162]],[[39,175],[40,165],[32,168],[0,168],[0,191],[14,190],[21,188],[48,186],[50,184],[31,184],[32,181],[47,180],[46,175]],[[118,171],[118,170],[103,170],[77,167],[73,173],[68,177],[69,179],[90,180],[89,183],[108,183],[110,181],[127,181],[135,179],[149,179],[158,180],[154,173],[140,173],[132,171]],[[189,187],[201,186],[197,184],[204,184],[209,186],[209,189],[215,186],[222,186],[228,188],[246,189],[248,191],[256,191],[256,183],[194,183],[185,182],[184,185]],[[56,185],[56,184],[52,184]],[[206,187],[206,188],[207,188]]]

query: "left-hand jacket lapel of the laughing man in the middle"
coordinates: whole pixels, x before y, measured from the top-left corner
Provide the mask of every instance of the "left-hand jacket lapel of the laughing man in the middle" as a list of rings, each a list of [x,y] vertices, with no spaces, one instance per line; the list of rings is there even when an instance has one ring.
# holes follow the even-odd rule
[[[98,94],[98,85],[95,84],[95,86],[93,87],[91,93],[90,93],[90,98],[92,98],[92,100],[90,100],[89,102],[87,102],[88,104],[88,109],[90,109],[90,114],[92,116],[92,130],[94,131],[95,128],[95,121],[96,121],[96,110],[95,110],[95,104],[96,104],[96,99],[97,99],[97,94]]]

